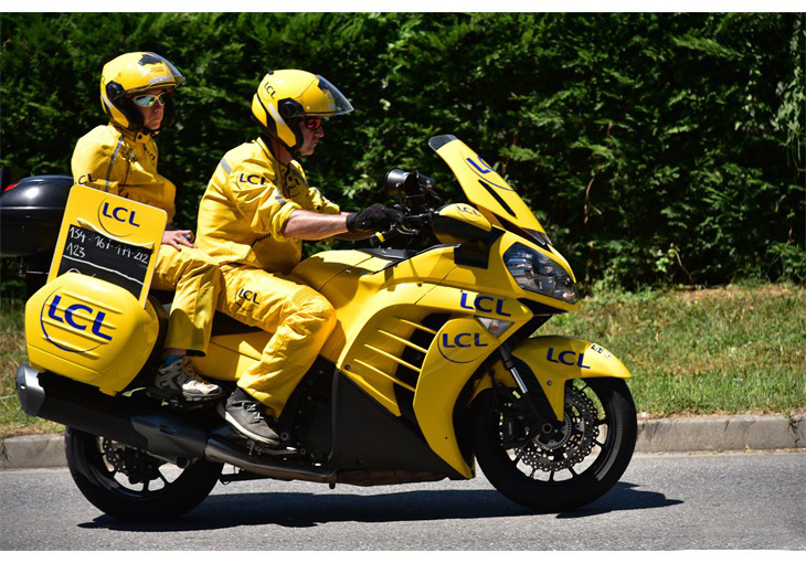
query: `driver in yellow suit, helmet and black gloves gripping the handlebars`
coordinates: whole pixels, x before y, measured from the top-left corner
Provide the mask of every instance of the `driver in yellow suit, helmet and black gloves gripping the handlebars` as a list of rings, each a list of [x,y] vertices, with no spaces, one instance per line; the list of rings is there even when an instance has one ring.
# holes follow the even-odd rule
[[[261,361],[242,373],[224,418],[252,439],[276,446],[268,417],[316,360],[336,325],[330,302],[290,275],[303,241],[369,237],[401,214],[380,204],[359,213],[308,185],[296,160],[325,136],[327,117],[352,106],[327,79],[305,71],[273,71],[252,99],[263,136],[224,155],[199,205],[199,246],[221,265],[222,309],[273,333]]]

